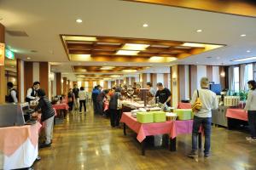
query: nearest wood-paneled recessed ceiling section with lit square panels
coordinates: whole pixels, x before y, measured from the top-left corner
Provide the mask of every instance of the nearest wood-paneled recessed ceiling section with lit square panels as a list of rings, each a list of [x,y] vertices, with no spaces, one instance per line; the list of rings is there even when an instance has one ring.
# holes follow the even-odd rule
[[[68,59],[72,61],[166,63],[223,46],[171,40],[74,35],[61,35],[61,41]],[[162,59],[154,59],[155,57]]]

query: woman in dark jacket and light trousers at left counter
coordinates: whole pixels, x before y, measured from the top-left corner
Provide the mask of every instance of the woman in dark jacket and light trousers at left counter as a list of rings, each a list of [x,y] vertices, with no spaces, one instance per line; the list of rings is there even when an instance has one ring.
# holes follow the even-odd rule
[[[51,103],[49,102],[48,97],[45,95],[43,89],[38,89],[38,97],[40,98],[38,101],[38,106],[35,108],[35,111],[41,110],[42,116],[41,121],[45,123],[44,133],[46,140],[44,144],[40,147],[49,147],[51,144],[51,137],[53,132],[53,124],[55,119],[55,111],[52,108]]]

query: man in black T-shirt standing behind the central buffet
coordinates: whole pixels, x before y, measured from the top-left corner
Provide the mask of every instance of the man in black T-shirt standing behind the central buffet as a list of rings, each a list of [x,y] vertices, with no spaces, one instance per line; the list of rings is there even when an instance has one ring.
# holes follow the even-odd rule
[[[155,98],[159,98],[159,102],[164,105],[171,106],[171,99],[172,94],[171,91],[168,88],[164,88],[163,84],[161,82],[158,82],[156,84],[158,90],[155,94]]]

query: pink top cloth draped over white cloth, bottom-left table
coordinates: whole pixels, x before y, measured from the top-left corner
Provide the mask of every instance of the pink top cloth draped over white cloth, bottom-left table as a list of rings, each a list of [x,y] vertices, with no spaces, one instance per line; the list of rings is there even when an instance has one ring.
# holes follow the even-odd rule
[[[0,152],[11,156],[27,139],[30,139],[32,145],[36,147],[40,127],[39,122],[21,127],[0,127]]]

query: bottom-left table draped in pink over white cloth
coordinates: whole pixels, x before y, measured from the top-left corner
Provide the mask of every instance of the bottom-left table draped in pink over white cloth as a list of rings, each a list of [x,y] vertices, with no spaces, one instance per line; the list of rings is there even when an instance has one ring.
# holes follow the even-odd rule
[[[0,127],[0,169],[32,167],[38,156],[41,124]]]

